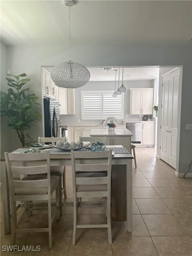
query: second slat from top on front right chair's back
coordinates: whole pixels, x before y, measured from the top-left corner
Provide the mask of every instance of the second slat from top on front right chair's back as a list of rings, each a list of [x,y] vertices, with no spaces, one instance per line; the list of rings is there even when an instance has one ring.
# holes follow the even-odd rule
[[[100,172],[107,171],[108,169],[108,164],[75,164],[76,172]]]

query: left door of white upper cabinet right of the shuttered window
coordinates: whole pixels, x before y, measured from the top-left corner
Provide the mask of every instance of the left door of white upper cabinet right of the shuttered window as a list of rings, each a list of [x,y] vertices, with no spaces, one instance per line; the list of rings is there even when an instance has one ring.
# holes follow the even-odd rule
[[[132,115],[140,115],[142,111],[142,89],[131,89],[130,108]]]

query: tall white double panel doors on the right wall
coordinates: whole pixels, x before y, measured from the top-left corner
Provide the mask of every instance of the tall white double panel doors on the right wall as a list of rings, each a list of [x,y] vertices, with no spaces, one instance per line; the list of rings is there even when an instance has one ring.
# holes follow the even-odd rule
[[[160,158],[176,168],[180,69],[163,77]]]

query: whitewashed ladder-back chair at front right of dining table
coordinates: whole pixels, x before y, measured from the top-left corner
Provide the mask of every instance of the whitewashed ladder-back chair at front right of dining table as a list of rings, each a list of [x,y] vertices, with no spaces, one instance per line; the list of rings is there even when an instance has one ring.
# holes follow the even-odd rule
[[[105,163],[97,164],[97,159],[104,158]],[[78,160],[77,160],[78,159]],[[85,160],[86,159],[86,160]],[[81,163],[89,160],[89,164]],[[100,152],[78,152],[71,150],[72,176],[73,176],[73,241],[76,243],[77,228],[107,228],[108,241],[111,238],[111,159],[112,150]],[[79,163],[80,161],[80,163]],[[103,173],[107,171],[107,173]],[[82,172],[82,173],[77,173]],[[86,172],[86,173],[84,173]],[[107,224],[77,224],[78,198],[104,197],[107,203]]]

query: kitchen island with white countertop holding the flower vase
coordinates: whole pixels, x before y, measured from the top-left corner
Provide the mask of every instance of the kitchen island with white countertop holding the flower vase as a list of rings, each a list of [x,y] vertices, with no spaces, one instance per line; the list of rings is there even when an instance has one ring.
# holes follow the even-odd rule
[[[131,154],[131,136],[133,134],[123,126],[114,128],[114,132],[109,132],[108,127],[91,127],[91,137],[106,136],[106,145],[122,145]]]

